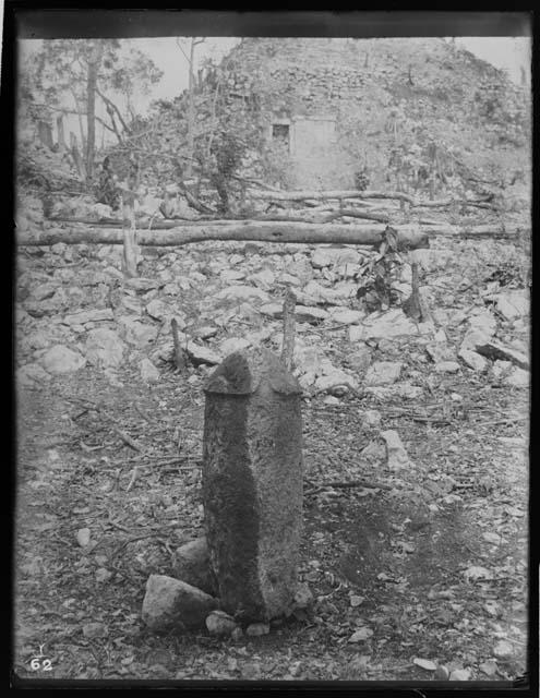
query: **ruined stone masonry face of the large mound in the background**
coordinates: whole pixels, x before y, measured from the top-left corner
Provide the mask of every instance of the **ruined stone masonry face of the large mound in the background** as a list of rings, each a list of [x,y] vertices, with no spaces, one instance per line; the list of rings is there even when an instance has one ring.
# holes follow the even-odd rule
[[[337,143],[321,152],[320,167],[314,153],[304,168],[313,181],[298,185],[352,185],[353,171],[364,164],[371,185],[384,185],[395,145],[393,110],[418,123],[418,133],[408,135],[421,144],[434,134],[445,147],[465,144],[467,151],[468,143],[489,136],[482,109],[494,85],[503,103],[523,101],[523,91],[500,71],[442,38],[245,38],[224,64],[232,72],[232,92],[256,89],[268,132],[275,119],[335,118]],[[495,136],[493,142],[504,151]],[[518,166],[515,145],[507,151],[506,161]],[[490,157],[487,147],[471,160],[489,166]]]

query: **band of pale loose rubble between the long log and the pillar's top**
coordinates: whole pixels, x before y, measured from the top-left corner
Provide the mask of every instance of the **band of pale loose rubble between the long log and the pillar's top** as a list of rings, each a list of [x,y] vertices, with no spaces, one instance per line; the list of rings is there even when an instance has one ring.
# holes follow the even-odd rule
[[[410,382],[410,372],[400,382],[403,371],[389,365],[395,362],[370,368],[374,349],[392,354],[405,345],[408,350],[418,347],[436,373],[481,373],[491,368],[508,385],[528,381],[527,347],[513,338],[516,333],[526,334],[529,299],[524,290],[490,289],[483,308],[464,312],[457,302],[441,305],[433,298],[436,288],[424,285],[421,291],[431,301],[434,322],[418,324],[400,308],[368,313],[357,301],[355,275],[369,253],[272,245],[262,254],[261,245],[253,243],[244,245],[242,254],[235,249],[238,245],[223,243],[223,251],[213,251],[209,261],[205,244],[158,250],[156,257],[149,256],[149,249],[141,277],[133,279],[123,277],[118,245],[59,243],[20,255],[21,384],[39,387],[51,376],[85,365],[103,370],[115,382],[118,369],[133,362],[142,381],[156,382],[173,354],[172,317],[190,360],[203,372],[236,349],[260,344],[278,349],[287,286],[298,300],[295,364],[307,390],[339,397],[344,385],[358,389],[363,384],[380,396],[413,399],[421,388]],[[432,274],[445,269],[452,252],[417,250],[412,255]],[[404,298],[410,292],[408,264],[397,287]],[[348,328],[350,350],[343,365],[336,364],[317,333],[336,328]],[[454,335],[452,341],[448,332]],[[463,336],[456,345],[457,333]]]

